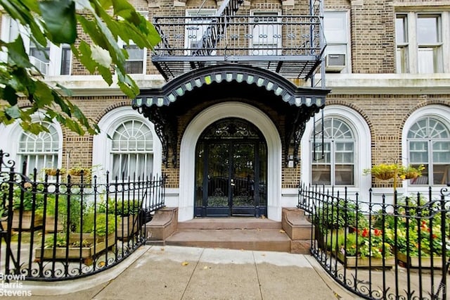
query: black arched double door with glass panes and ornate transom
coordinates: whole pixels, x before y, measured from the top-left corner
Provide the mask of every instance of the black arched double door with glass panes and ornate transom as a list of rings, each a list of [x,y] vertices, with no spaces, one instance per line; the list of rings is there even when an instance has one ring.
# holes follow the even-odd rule
[[[247,120],[224,118],[195,147],[195,217],[267,215],[267,145]]]

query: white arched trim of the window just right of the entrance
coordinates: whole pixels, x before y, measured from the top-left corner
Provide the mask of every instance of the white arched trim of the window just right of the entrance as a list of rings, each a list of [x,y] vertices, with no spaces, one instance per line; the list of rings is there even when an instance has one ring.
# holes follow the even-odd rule
[[[316,115],[316,118],[320,118],[320,114]],[[371,130],[368,127],[366,120],[352,108],[340,105],[330,105],[323,108],[323,116],[335,116],[340,120],[345,120],[347,125],[353,130],[355,141],[355,156],[354,156],[354,186],[348,187],[348,191],[360,192],[362,196],[366,196],[368,199],[368,189],[371,188],[371,176],[363,175],[363,170],[371,168]],[[313,119],[308,121],[304,134],[302,137],[301,145],[301,180],[306,185],[311,184],[311,143],[309,141],[311,134],[313,133]],[[336,186],[335,189],[344,189],[344,186]]]

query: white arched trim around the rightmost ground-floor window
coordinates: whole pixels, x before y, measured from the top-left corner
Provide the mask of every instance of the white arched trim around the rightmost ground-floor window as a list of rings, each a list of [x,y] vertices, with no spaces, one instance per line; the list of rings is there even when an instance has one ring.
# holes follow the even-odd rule
[[[429,105],[419,108],[417,111],[411,113],[406,120],[403,131],[401,132],[401,157],[402,165],[409,165],[409,146],[408,146],[408,132],[412,125],[414,125],[421,118],[437,118],[442,123],[450,127],[449,123],[450,108],[443,105]],[[430,184],[431,185],[431,184]],[[404,180],[403,186],[406,192],[423,192],[423,185],[411,185],[409,180]],[[442,185],[431,185],[442,187]]]

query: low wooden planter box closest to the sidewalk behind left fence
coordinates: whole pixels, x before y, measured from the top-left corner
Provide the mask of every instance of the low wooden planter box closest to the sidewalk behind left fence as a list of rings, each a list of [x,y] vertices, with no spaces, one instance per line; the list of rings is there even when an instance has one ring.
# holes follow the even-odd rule
[[[82,235],[82,238],[80,239],[80,235]],[[95,252],[94,252],[94,237],[90,233],[71,233],[69,236],[69,242],[72,244],[74,242],[79,242],[80,240],[85,240],[89,243],[91,243],[91,246],[89,247],[81,247],[81,256],[80,256],[80,247],[79,246],[70,246],[68,251],[68,259],[79,259],[82,258],[84,260],[84,263],[86,265],[89,265],[92,261],[92,258],[98,254],[101,253],[106,249],[106,242],[103,240],[102,242],[97,242],[95,244]],[[108,248],[115,245],[115,237],[114,234],[108,235]],[[56,247],[55,249],[55,259],[66,259],[66,249],[67,247]],[[41,260],[41,248],[35,248],[34,249],[34,258],[35,261]],[[42,255],[42,259],[44,260],[51,260],[53,259],[53,247],[51,248],[44,248],[44,254]]]

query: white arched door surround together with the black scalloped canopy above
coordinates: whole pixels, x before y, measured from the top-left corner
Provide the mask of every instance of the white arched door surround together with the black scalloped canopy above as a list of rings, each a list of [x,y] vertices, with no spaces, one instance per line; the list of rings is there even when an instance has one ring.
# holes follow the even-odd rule
[[[323,108],[328,92],[296,87],[269,70],[235,63],[193,70],[164,87],[141,90],[133,107],[155,124],[162,163],[172,173],[166,204],[179,208],[179,221],[195,216],[198,140],[207,127],[225,118],[248,120],[262,133],[268,161],[266,217],[281,220],[283,165],[298,157],[304,125]],[[196,113],[199,108],[203,110]]]

